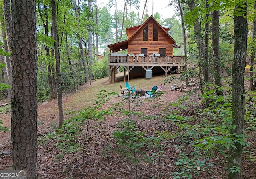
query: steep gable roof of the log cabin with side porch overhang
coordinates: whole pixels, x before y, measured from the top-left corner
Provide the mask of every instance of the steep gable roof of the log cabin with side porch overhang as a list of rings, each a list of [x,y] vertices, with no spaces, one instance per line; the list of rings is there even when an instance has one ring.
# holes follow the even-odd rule
[[[130,27],[130,28],[137,28],[137,30],[127,39],[127,40],[124,40],[124,41],[121,41],[121,42],[117,42],[117,43],[114,43],[114,44],[109,44],[108,45],[108,48],[110,48],[110,50],[114,51],[114,52],[118,52],[120,51],[121,49],[124,50],[124,49],[127,49],[128,48],[128,41],[140,30],[142,29],[142,27],[148,23],[149,20],[153,20],[154,22],[156,22],[156,24],[162,28],[162,30],[166,33],[166,35],[174,41],[174,44],[173,44],[173,47],[175,48],[180,48],[180,46],[176,45],[176,41],[170,36],[170,34],[168,34],[168,30],[170,30],[169,28],[164,28],[162,27],[158,22],[157,20],[151,15],[149,16],[149,18],[147,20],[145,20],[145,22],[139,26],[134,26],[134,27]],[[130,28],[126,28],[127,29],[130,29]],[[127,34],[127,31],[126,31],[126,34]],[[128,34],[127,34],[128,35]]]

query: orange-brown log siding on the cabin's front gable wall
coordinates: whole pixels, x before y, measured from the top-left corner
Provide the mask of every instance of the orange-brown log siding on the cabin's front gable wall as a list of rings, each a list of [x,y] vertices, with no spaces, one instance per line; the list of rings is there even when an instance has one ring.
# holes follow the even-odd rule
[[[140,48],[148,48],[148,55],[153,54],[153,52],[159,53],[159,48],[166,48],[166,55],[172,56],[172,44],[174,41],[170,39],[170,37],[158,26],[158,24],[154,24],[158,27],[158,41],[153,41],[153,20],[150,20],[148,23],[148,41],[142,40],[142,30],[145,26],[143,26],[139,32],[137,32],[132,39],[128,42],[128,53],[133,53],[134,55],[140,54]],[[129,30],[129,36],[131,36],[133,29]]]

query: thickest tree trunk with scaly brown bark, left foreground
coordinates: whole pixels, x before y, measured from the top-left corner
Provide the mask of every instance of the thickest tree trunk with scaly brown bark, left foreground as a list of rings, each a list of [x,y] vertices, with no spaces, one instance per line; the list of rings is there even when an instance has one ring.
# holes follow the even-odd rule
[[[12,162],[37,179],[36,4],[12,0]]]

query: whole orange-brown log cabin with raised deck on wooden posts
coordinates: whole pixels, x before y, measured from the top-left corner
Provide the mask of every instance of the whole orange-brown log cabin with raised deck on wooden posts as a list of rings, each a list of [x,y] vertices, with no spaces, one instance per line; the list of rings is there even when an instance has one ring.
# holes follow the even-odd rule
[[[153,16],[142,25],[126,28],[127,40],[109,44],[109,83],[115,82],[116,69],[124,67],[124,82],[130,77],[142,76],[147,70],[153,73],[167,72],[172,67],[185,66],[184,56],[173,56],[173,48],[180,48],[168,34],[169,28],[162,27]],[[128,49],[128,54],[118,51]]]

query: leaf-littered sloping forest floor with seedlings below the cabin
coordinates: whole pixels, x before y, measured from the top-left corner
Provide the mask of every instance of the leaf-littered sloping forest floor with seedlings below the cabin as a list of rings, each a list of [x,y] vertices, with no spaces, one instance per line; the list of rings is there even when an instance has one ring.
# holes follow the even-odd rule
[[[136,79],[132,79],[129,83],[136,88],[148,90],[152,88],[153,83],[163,84],[164,78],[153,77],[146,82],[147,85],[143,84],[143,86],[142,81]],[[59,133],[56,132],[58,101],[52,100],[38,104],[38,175],[40,179],[172,179],[175,178],[174,173],[176,173],[176,179],[181,177],[224,179],[227,177],[226,155],[213,150],[212,153],[205,151],[212,154],[211,157],[206,157],[205,153],[191,147],[193,142],[191,136],[194,135],[193,132],[199,131],[197,127],[202,124],[203,119],[201,121],[188,118],[196,118],[200,115],[198,109],[205,108],[201,103],[199,90],[190,93],[190,97],[179,106],[173,103],[187,93],[169,90],[170,84],[164,85],[165,93],[160,98],[140,97],[130,100],[129,103],[127,101],[130,98],[110,95],[106,103],[103,103],[105,98],[100,97],[98,103],[102,103],[102,108],[99,105],[92,105],[102,87],[104,89],[106,86],[107,92],[113,92],[109,89],[114,88],[114,92],[120,93],[119,84],[124,85],[124,82],[108,84],[108,79],[104,78],[92,82],[91,86],[86,84],[76,91],[64,94],[65,111],[76,111],[80,117],[69,120],[74,114],[67,112],[65,119],[70,122],[65,130]],[[190,90],[193,89],[190,88]],[[6,102],[2,100],[0,104]],[[88,108],[88,104],[96,108]],[[180,108],[180,105],[183,108]],[[104,115],[97,111],[112,112],[112,114]],[[183,119],[177,115],[183,116]],[[89,118],[86,119],[86,116]],[[99,116],[105,116],[105,118]],[[10,112],[1,114],[0,120],[4,122],[3,126],[10,128],[10,118]],[[78,120],[82,118],[85,123]],[[209,123],[204,125],[209,125],[211,120],[209,119]],[[185,123],[187,125],[184,125]],[[188,126],[192,127],[188,128]],[[248,124],[245,124],[245,127],[248,127]],[[116,133],[116,131],[121,132]],[[255,179],[255,128],[247,130],[247,133],[250,147],[244,149],[242,178]],[[10,132],[1,131],[0,135],[0,153],[8,151],[8,154],[0,155],[0,170],[11,169]],[[222,152],[228,153],[228,151]],[[180,162],[181,167],[177,166],[177,162]],[[186,172],[182,173],[184,171],[191,175],[186,176]],[[177,173],[180,177],[177,177]]]

